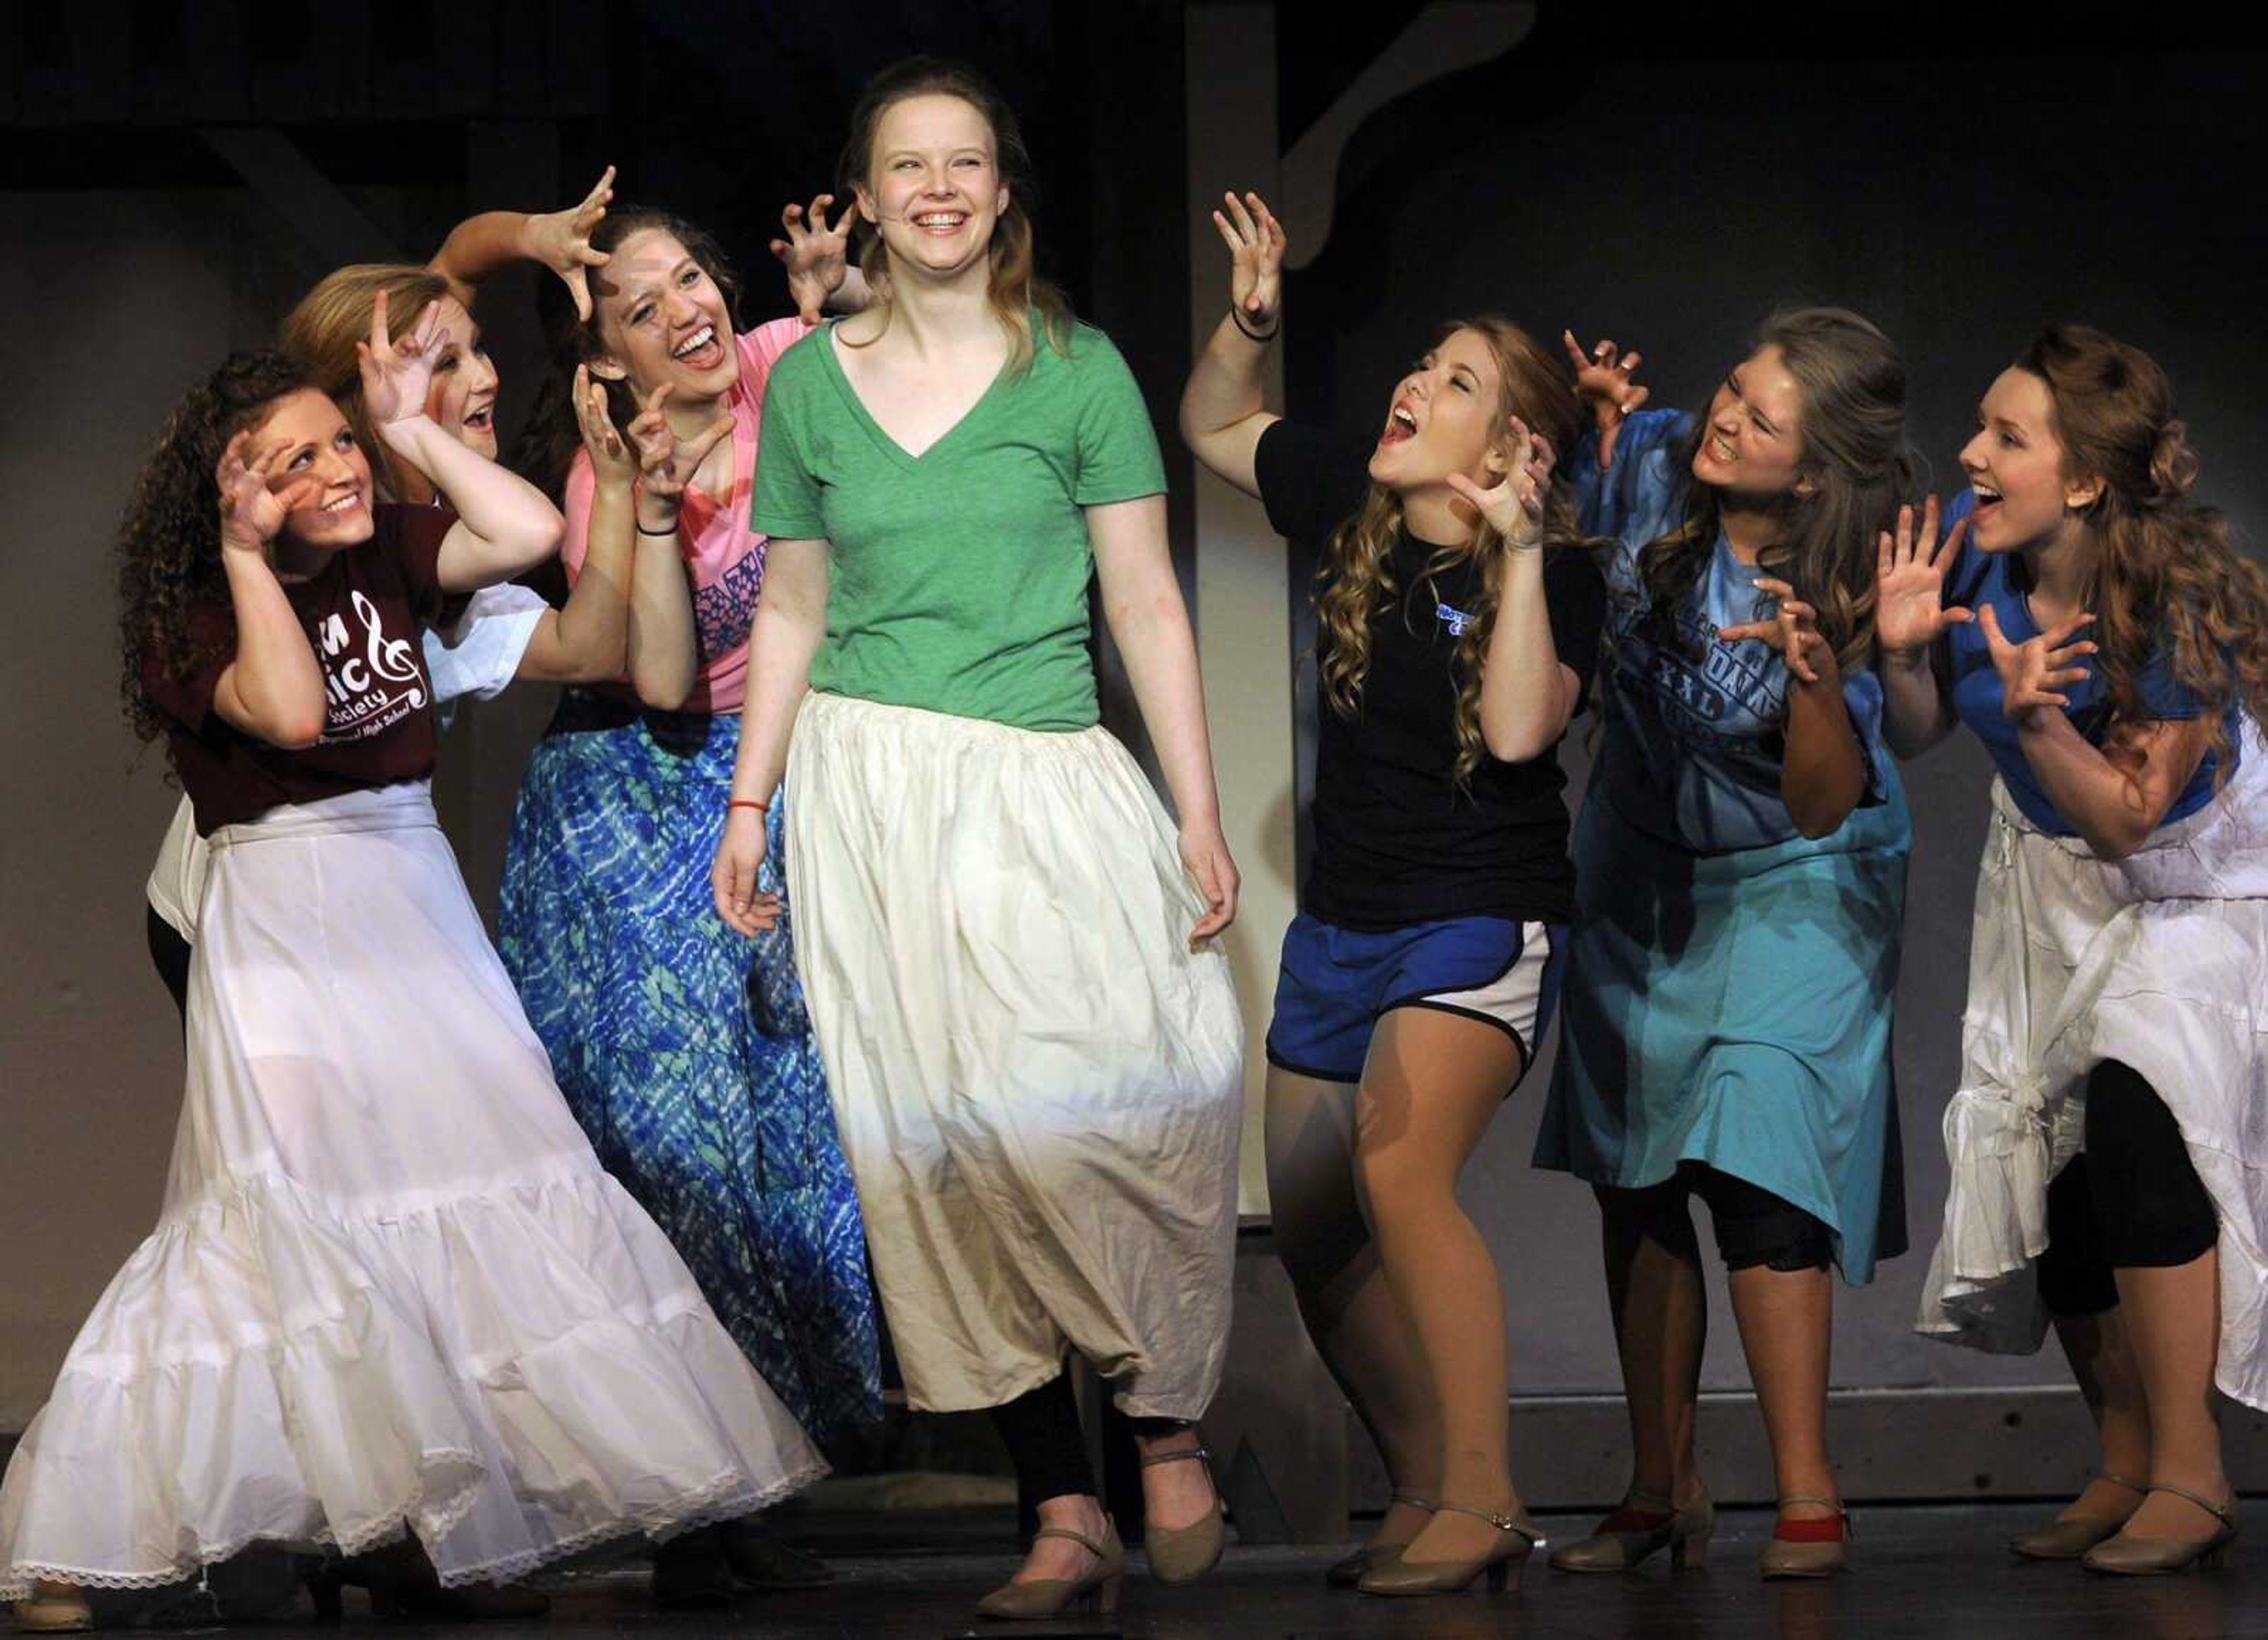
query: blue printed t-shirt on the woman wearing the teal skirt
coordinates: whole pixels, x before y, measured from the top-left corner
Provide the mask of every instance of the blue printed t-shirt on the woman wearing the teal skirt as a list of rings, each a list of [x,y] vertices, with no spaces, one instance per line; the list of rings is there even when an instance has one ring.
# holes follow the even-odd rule
[[[1799,837],[1780,801],[1787,753],[1787,662],[1776,644],[1717,637],[1771,615],[1755,590],[1769,574],[1733,556],[1719,533],[1708,569],[1678,610],[1690,653],[1658,649],[1644,633],[1647,590],[1637,556],[1685,517],[1685,436],[1692,415],[1640,411],[1622,426],[1615,465],[1599,470],[1597,436],[1574,470],[1576,513],[1588,535],[1610,535],[1608,637],[1601,680],[1606,735],[1592,783],[1624,821],[1690,853],[1767,848]],[[1844,701],[1867,760],[1862,803],[1885,798],[1882,683],[1844,674]]]

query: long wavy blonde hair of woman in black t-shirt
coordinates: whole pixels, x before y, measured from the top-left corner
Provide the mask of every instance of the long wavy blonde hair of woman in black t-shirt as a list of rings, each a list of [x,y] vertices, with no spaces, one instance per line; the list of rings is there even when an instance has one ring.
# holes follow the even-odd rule
[[[1549,438],[1558,454],[1551,494],[1545,499],[1545,551],[1594,551],[1594,544],[1576,531],[1574,494],[1563,476],[1583,431],[1567,361],[1495,313],[1452,320],[1436,336],[1436,347],[1458,331],[1479,336],[1497,361],[1497,415],[1490,438],[1506,438],[1517,415],[1531,431]],[[1383,483],[1372,483],[1363,506],[1331,533],[1315,572],[1315,622],[1329,640],[1322,646],[1322,699],[1340,717],[1361,717],[1363,710],[1370,624],[1399,590],[1390,567],[1399,533],[1402,497]],[[1488,758],[1488,742],[1481,735],[1481,660],[1488,656],[1490,633],[1497,631],[1497,606],[1504,597],[1504,538],[1488,519],[1479,519],[1470,540],[1436,549],[1417,572],[1422,583],[1465,560],[1481,565],[1481,594],[1472,608],[1474,619],[1456,640],[1458,787],[1465,787]]]

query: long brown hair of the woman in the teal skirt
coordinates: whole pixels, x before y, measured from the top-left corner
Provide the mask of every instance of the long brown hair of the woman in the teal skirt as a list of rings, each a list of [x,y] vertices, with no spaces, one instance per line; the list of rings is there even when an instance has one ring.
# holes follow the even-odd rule
[[[1783,576],[1819,610],[1835,665],[1853,671],[1873,651],[1876,538],[1914,499],[1919,474],[1905,442],[1905,365],[1892,340],[1848,308],[1774,313],[1755,333],[1755,349],[1762,347],[1780,349],[1803,392],[1799,472],[1812,490],[1789,497],[1787,529],[1758,556],[1758,567]],[[1678,449],[1678,472],[1692,472],[1703,438],[1706,411]],[[1687,481],[1685,519],[1637,556],[1647,590],[1640,631],[1658,649],[1690,649],[1678,612],[1717,551],[1721,506],[1715,488]]]

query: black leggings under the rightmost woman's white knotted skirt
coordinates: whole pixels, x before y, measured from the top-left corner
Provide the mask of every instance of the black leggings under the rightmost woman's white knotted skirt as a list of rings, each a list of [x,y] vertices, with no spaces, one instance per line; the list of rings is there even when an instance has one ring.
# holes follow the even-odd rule
[[[2220,1214],[2166,1100],[2105,1059],[2087,1077],[2087,1150],[2048,1186],[2039,1297],[2057,1316],[2100,1316],[2118,1307],[2112,1270],[2189,1263],[2218,1239]]]

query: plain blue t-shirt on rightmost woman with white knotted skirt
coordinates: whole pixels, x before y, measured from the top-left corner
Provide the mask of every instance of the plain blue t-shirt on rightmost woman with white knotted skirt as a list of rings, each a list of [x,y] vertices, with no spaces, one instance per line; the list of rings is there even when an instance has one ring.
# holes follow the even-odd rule
[[[1975,504],[1975,492],[1964,490],[1946,513],[1946,531],[1969,517]],[[2016,553],[1987,553],[1962,542],[1962,556],[1946,572],[1946,606],[1966,606],[1971,612],[1982,612],[1989,603],[1994,615],[2000,617],[2000,635],[2012,644],[2039,637],[2039,622],[2032,619],[2032,601],[2009,578],[2016,563]],[[1978,622],[1946,628],[1946,662],[1953,683],[1953,710],[1984,742],[1984,751],[1991,753],[1994,767],[2007,783],[2007,794],[2016,798],[2016,808],[2039,830],[2053,837],[2075,837],[2077,826],[2062,817],[2055,801],[2032,773],[2030,760],[2023,755],[2023,746],[2016,739],[2016,721],[2003,708],[2005,692],[2000,687],[2000,671],[1991,665],[1991,644],[1984,642],[1984,628]],[[2087,665],[2087,676],[2059,690],[2059,694],[2071,696],[2064,717],[2071,719],[2071,726],[2080,730],[2089,746],[2100,746],[2112,721],[2109,690],[2089,660],[2080,665]],[[2191,719],[2204,712],[2204,701],[2198,692],[2173,676],[2173,656],[2166,649],[2150,656],[2150,665],[2141,669],[2134,687],[2150,721]],[[2232,769],[2236,767],[2239,744],[2236,715],[2239,705],[2232,699],[2227,715]],[[2218,769],[2220,758],[2211,751],[2204,753],[2198,771],[2182,787],[2182,794],[2166,810],[2166,819],[2159,826],[2189,819],[2211,803]]]

